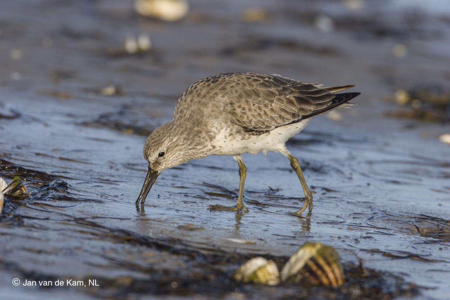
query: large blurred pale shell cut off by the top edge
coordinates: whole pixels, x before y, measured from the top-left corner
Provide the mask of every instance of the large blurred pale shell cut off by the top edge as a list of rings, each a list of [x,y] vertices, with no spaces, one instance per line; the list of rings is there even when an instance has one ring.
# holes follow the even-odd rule
[[[186,0],[136,0],[135,10],[144,17],[175,22],[188,14],[189,4]]]

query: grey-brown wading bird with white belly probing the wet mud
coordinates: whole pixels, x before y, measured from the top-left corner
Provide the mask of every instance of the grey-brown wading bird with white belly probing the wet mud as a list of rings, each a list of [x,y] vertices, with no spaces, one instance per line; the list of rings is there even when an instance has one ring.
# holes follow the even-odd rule
[[[153,183],[165,169],[209,155],[232,155],[239,167],[239,195],[235,206],[210,205],[212,210],[248,212],[243,202],[247,169],[244,153],[280,152],[291,162],[305,193],[305,202],[295,213],[301,216],[309,206],[310,191],[298,159],[286,148],[286,141],[310,122],[311,117],[339,105],[360,93],[340,93],[354,86],[321,87],[277,74],[225,73],[203,78],[180,96],[173,120],[158,127],[145,141],[148,173],[136,203],[144,204]]]

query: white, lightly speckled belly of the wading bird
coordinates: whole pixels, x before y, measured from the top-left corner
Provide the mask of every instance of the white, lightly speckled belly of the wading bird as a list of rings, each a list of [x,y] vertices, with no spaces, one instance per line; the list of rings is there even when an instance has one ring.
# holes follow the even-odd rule
[[[225,131],[220,132],[213,141],[213,145],[216,146],[214,154],[243,155],[244,153],[279,152],[285,149],[286,141],[301,132],[309,121],[310,119],[306,119],[298,123],[278,127],[259,136],[251,136],[249,139],[233,138]]]

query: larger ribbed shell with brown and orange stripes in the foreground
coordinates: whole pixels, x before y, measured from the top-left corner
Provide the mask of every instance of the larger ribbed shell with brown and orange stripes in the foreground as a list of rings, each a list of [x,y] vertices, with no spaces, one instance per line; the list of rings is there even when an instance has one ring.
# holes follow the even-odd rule
[[[336,250],[314,242],[300,247],[281,270],[281,281],[302,280],[313,285],[341,286],[344,272]]]

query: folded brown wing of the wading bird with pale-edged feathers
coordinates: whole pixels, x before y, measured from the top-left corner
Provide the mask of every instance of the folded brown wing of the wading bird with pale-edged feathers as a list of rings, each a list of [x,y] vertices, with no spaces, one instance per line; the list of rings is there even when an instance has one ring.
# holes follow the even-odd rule
[[[317,84],[275,74],[238,73],[226,76],[229,76],[226,80],[229,86],[223,95],[226,99],[225,112],[243,130],[255,134],[301,121],[328,110],[329,106],[343,103],[342,99],[336,99],[333,87],[324,89]]]

